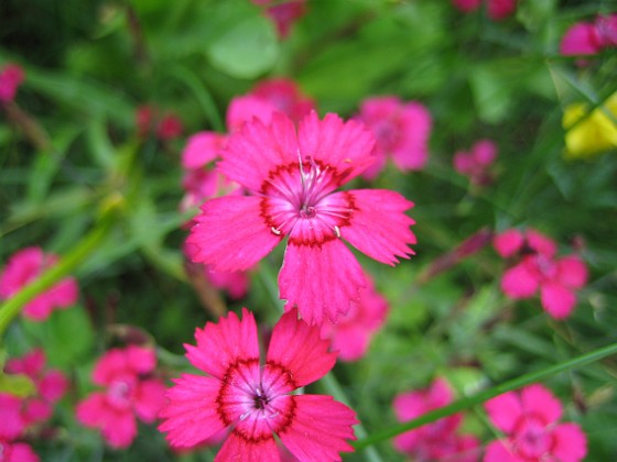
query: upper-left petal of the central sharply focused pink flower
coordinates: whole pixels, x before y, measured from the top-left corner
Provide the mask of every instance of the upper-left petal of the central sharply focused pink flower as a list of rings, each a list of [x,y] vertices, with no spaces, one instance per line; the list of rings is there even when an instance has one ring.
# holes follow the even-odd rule
[[[280,112],[266,125],[255,119],[234,133],[221,152],[219,170],[249,190],[259,191],[271,172],[299,163],[299,145],[293,122]],[[307,155],[312,153],[307,152]]]

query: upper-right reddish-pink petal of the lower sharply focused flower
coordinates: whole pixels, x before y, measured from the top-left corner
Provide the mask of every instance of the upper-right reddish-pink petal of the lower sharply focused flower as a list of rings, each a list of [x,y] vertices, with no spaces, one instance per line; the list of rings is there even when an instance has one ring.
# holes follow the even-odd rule
[[[293,388],[297,388],[323,377],[334,367],[336,353],[328,353],[328,348],[329,341],[322,340],[320,329],[299,320],[297,310],[292,309],[274,326],[267,363],[289,370]]]

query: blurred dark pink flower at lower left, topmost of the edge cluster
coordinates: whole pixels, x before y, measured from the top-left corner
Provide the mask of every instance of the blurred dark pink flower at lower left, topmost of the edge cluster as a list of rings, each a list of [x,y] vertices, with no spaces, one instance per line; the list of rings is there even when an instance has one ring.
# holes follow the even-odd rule
[[[68,387],[66,376],[56,370],[45,369],[45,354],[36,349],[22,358],[7,361],[6,372],[24,374],[36,387],[36,394],[23,398],[22,416],[26,425],[48,419],[53,413],[53,405],[62,398]]]

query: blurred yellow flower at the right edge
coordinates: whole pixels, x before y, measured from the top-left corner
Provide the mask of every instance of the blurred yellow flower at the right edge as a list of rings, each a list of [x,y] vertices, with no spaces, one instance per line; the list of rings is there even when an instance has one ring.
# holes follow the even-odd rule
[[[609,112],[613,119],[606,112]],[[588,158],[594,154],[616,148],[615,120],[617,120],[617,92],[613,94],[603,106],[594,109],[591,114],[585,103],[570,105],[562,120],[563,128],[566,130],[565,157]]]

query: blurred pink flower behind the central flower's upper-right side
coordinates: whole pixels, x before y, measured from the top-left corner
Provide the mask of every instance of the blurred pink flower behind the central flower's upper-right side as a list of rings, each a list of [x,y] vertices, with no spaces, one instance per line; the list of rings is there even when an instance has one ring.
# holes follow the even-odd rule
[[[403,172],[422,169],[429,160],[429,136],[432,118],[419,102],[402,102],[397,97],[366,99],[358,120],[371,129],[376,138],[377,162],[362,176],[374,179],[386,165],[388,156]]]

